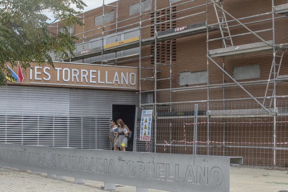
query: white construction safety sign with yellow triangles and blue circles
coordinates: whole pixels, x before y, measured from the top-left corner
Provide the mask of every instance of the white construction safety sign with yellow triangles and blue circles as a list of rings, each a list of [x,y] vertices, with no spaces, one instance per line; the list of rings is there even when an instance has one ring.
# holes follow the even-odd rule
[[[140,141],[150,141],[153,110],[142,110]]]

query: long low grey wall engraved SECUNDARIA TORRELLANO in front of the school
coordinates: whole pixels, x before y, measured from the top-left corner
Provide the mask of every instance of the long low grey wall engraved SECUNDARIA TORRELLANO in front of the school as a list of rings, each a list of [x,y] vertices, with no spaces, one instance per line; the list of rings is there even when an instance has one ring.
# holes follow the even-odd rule
[[[147,187],[149,183],[149,188],[165,191],[229,191],[229,157],[122,154],[0,143],[1,166],[135,187]]]

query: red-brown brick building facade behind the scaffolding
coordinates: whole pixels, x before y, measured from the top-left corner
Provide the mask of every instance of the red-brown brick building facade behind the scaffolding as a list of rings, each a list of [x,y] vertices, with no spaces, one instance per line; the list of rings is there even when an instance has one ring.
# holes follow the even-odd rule
[[[287,3],[286,0],[223,0],[221,3],[226,12],[222,11],[217,6],[215,8],[213,6],[213,2],[210,0],[207,1],[208,4],[206,4],[206,0],[157,0],[157,2],[156,0],[145,0],[141,2],[141,17],[139,16],[140,5],[138,0],[116,1],[109,4],[113,7],[104,6],[104,9],[103,7],[98,7],[79,15],[82,17],[82,21],[84,17],[85,26],[83,28],[82,26],[74,25],[73,34],[79,38],[79,41],[76,41],[77,51],[75,51],[75,55],[77,58],[72,57],[73,62],[116,64],[120,66],[138,67],[140,61],[140,44],[137,40],[134,42],[134,44],[133,42],[130,42],[131,47],[133,48],[132,51],[129,44],[127,44],[127,46],[124,48],[121,48],[120,45],[111,52],[109,52],[109,50],[105,52],[105,49],[100,49],[100,51],[98,50],[98,52],[95,52],[92,49],[97,46],[103,47],[104,45],[109,45],[109,43],[119,41],[124,41],[125,45],[126,39],[139,37],[142,44],[140,48],[141,67],[154,68],[154,57],[157,56],[156,62],[159,64],[155,65],[157,66],[158,71],[156,88],[157,90],[169,89],[170,83],[171,88],[173,88],[171,97],[171,90],[157,91],[157,103],[167,103],[170,101],[174,102],[172,105],[174,106],[173,110],[176,112],[194,111],[194,103],[190,103],[191,105],[189,105],[189,102],[191,101],[199,101],[199,103],[202,105],[202,111],[207,110],[207,105],[209,105],[209,111],[222,110],[222,112],[225,110],[236,109],[261,109],[261,106],[252,100],[250,96],[239,86],[231,86],[235,84],[228,84],[228,86],[222,85],[222,83],[234,83],[234,81],[227,75],[223,76],[221,69],[219,69],[219,67],[217,67],[211,60],[208,59],[207,65],[207,51],[220,49],[222,47],[225,48],[222,39],[215,40],[222,37],[221,31],[219,30],[219,24],[217,24],[218,21],[216,12],[218,12],[220,22],[224,21],[221,23],[222,25],[220,24],[220,26],[223,27],[222,31],[224,32],[222,33],[224,33],[224,37],[226,37],[226,48],[231,47],[232,45],[227,36],[232,36],[231,38],[233,45],[235,46],[235,50],[238,49],[237,46],[240,48],[242,45],[249,44],[249,47],[252,45],[252,43],[262,42],[258,37],[256,37],[255,34],[249,34],[249,31],[246,28],[241,26],[239,22],[233,20],[232,17],[228,15],[229,13],[233,17],[239,19],[238,21],[245,24],[245,26],[251,29],[253,32],[256,32],[256,34],[259,35],[264,41],[270,42],[270,40],[275,38],[274,44],[278,45],[275,51],[276,76],[279,66],[277,64],[280,63],[280,60],[282,61],[282,64],[278,76],[285,77],[285,75],[288,73],[287,49],[285,47],[281,48],[281,46],[285,46],[285,43],[288,43],[288,19],[285,16],[285,13],[281,12],[274,14],[275,18],[272,18],[273,9],[276,10],[274,6],[285,4]],[[157,3],[156,7],[155,3]],[[274,6],[272,3],[274,3]],[[219,1],[216,1],[216,4],[221,6]],[[117,8],[115,6],[117,6]],[[206,8],[208,12],[206,12]],[[154,9],[156,9],[156,12],[154,12]],[[215,11],[215,9],[218,11]],[[102,17],[103,13],[104,18]],[[223,13],[225,14],[225,18]],[[99,20],[101,20],[101,22]],[[105,21],[104,23],[102,22],[103,20]],[[213,26],[215,28],[210,30],[211,26],[209,26],[209,29],[207,28],[209,31],[208,33],[206,33],[205,29],[200,32],[195,32],[192,30],[191,33],[188,33],[187,35],[171,35],[172,37],[170,38],[165,39],[165,37],[163,37],[164,40],[158,37],[155,41],[155,20],[157,22],[156,33],[158,36],[161,34],[161,31],[163,34],[165,34],[169,29],[174,30],[175,28],[179,28],[177,29],[179,31],[185,31],[190,25],[200,22],[208,22],[210,25],[214,24]],[[232,21],[230,22],[230,20]],[[118,21],[117,27],[116,21]],[[275,25],[274,29],[273,22]],[[227,28],[227,24],[229,28]],[[62,27],[61,23],[55,24],[54,26],[58,26],[58,28]],[[139,29],[140,26],[141,30]],[[206,24],[204,26],[206,28]],[[133,29],[134,31],[131,31]],[[227,29],[229,29],[229,33],[227,32]],[[56,28],[52,28],[51,30],[56,32]],[[116,37],[111,37],[111,35],[116,33],[116,30],[119,34],[117,35],[117,39]],[[174,32],[177,33],[176,30]],[[168,34],[168,32],[166,34]],[[103,43],[102,38],[104,38]],[[206,43],[207,38],[209,39],[208,44]],[[95,42],[98,43],[97,46],[93,44]],[[156,53],[154,52],[155,46],[157,47]],[[238,82],[246,82],[242,83],[243,87],[255,98],[264,97],[268,82],[267,80],[273,79],[274,75],[271,73],[272,76],[269,78],[271,64],[273,63],[273,44],[268,45],[268,47],[270,48],[267,50],[263,49],[261,52],[251,50],[251,52],[240,52],[240,54],[237,56],[225,55],[223,57],[213,57],[213,60],[219,64],[219,66],[224,68],[225,71]],[[129,49],[130,52],[127,51]],[[85,57],[81,53],[76,54],[85,50],[89,50],[91,53],[90,60],[89,54],[86,54]],[[282,52],[283,56],[281,57]],[[103,56],[103,53],[105,53],[105,56]],[[211,56],[211,54],[209,55]],[[92,59],[92,57],[94,58]],[[117,57],[117,60],[113,59],[115,57]],[[54,60],[59,59],[60,58],[54,58]],[[105,60],[105,62],[103,62],[103,60]],[[161,65],[169,63],[172,65],[171,71],[170,66]],[[191,74],[189,74],[189,72]],[[203,74],[204,76],[207,74],[206,77],[203,77]],[[169,79],[170,75],[172,77],[171,81]],[[270,82],[272,83],[269,83],[266,96],[272,96],[273,93],[273,81]],[[287,95],[288,85],[285,82],[285,78],[283,81],[277,82],[275,89],[277,96]],[[210,87],[209,94],[207,94],[208,86]],[[176,88],[180,89],[177,91]],[[181,89],[182,91],[179,91]],[[151,92],[153,92],[153,90]],[[208,98],[211,100],[209,104],[207,103]],[[243,100],[243,98],[250,99]],[[223,99],[226,99],[226,101],[223,101]],[[263,98],[259,98],[258,100],[260,103],[263,103]],[[273,102],[271,107],[270,101],[271,98],[267,98],[264,105],[267,108],[272,109]],[[187,104],[184,102],[187,102]],[[184,106],[184,104],[186,105]],[[223,115],[225,112],[218,116],[213,116],[211,114],[212,116],[209,118],[210,122],[215,124],[210,124],[210,126],[208,126],[208,123],[199,125],[198,141],[217,141],[222,143],[219,145],[212,143],[208,147],[206,143],[200,143],[199,145],[203,146],[200,147],[199,150],[197,149],[197,154],[243,156],[245,157],[245,164],[249,165],[287,166],[288,162],[285,160],[287,159],[288,155],[287,145],[265,144],[267,142],[287,142],[286,138],[288,136],[288,132],[286,131],[286,123],[284,122],[286,121],[286,109],[284,109],[287,107],[286,99],[277,98],[276,107],[279,107],[278,110],[283,110],[283,115],[276,115],[276,121],[278,123],[269,123],[274,121],[274,116],[271,114],[265,115],[267,111],[262,111],[261,114],[258,115],[251,115],[250,113],[255,113],[253,111],[250,111],[249,113],[247,111],[242,111],[241,113],[239,112],[238,114],[233,114],[234,116],[227,115],[232,113],[232,111],[226,111],[226,115]],[[159,111],[166,110],[169,112],[169,107],[164,108],[165,107],[162,106],[161,108],[160,106],[160,108],[157,109]],[[172,120],[163,118],[158,119],[158,133],[160,134],[158,135],[157,140],[155,140],[155,142],[151,145],[154,147],[156,144],[159,144],[157,147],[155,147],[155,149],[162,153],[167,153],[168,151],[170,153],[191,154],[192,150],[190,149],[192,147],[190,147],[189,150],[186,149],[186,146],[184,146],[186,145],[186,142],[180,142],[180,140],[184,140],[185,138],[185,141],[187,142],[193,141],[193,125],[186,126],[187,132],[185,132],[185,129],[183,132],[183,123],[194,122],[192,116],[179,117],[175,119],[172,118]],[[201,116],[198,122],[207,122],[207,117]],[[276,130],[274,130],[274,125]],[[274,140],[274,135],[276,135],[276,140]],[[166,145],[163,147],[165,144],[164,141],[168,141],[168,144],[171,142],[172,144],[172,140],[175,140],[177,145],[173,143],[175,144],[174,146]],[[227,144],[228,146],[225,151],[223,150],[225,148],[224,145],[226,145],[224,142],[233,142],[234,144],[231,144],[231,146]],[[191,143],[187,143],[187,145],[191,145]],[[254,157],[251,157],[253,155]],[[276,164],[275,159],[277,159]]]

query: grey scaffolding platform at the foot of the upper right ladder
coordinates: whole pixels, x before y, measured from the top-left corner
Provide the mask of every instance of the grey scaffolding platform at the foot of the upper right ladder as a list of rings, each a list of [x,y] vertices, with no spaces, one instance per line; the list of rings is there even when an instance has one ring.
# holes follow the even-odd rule
[[[272,45],[272,40],[267,42]],[[209,50],[209,55],[210,57],[235,58],[271,52],[273,52],[273,47],[261,41],[256,43],[248,43],[244,45]]]

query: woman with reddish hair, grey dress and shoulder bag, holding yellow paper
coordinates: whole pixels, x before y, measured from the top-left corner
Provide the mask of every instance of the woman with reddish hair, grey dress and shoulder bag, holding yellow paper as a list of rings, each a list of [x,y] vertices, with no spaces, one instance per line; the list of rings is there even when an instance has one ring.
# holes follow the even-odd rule
[[[124,124],[124,122],[122,121],[122,119],[118,119],[116,121],[117,125],[118,125],[118,131],[116,134],[116,137],[114,139],[114,142],[116,141],[116,139],[119,136],[118,142],[120,145],[120,149],[121,151],[126,151],[126,147],[127,147],[127,134],[130,132],[129,128]]]

